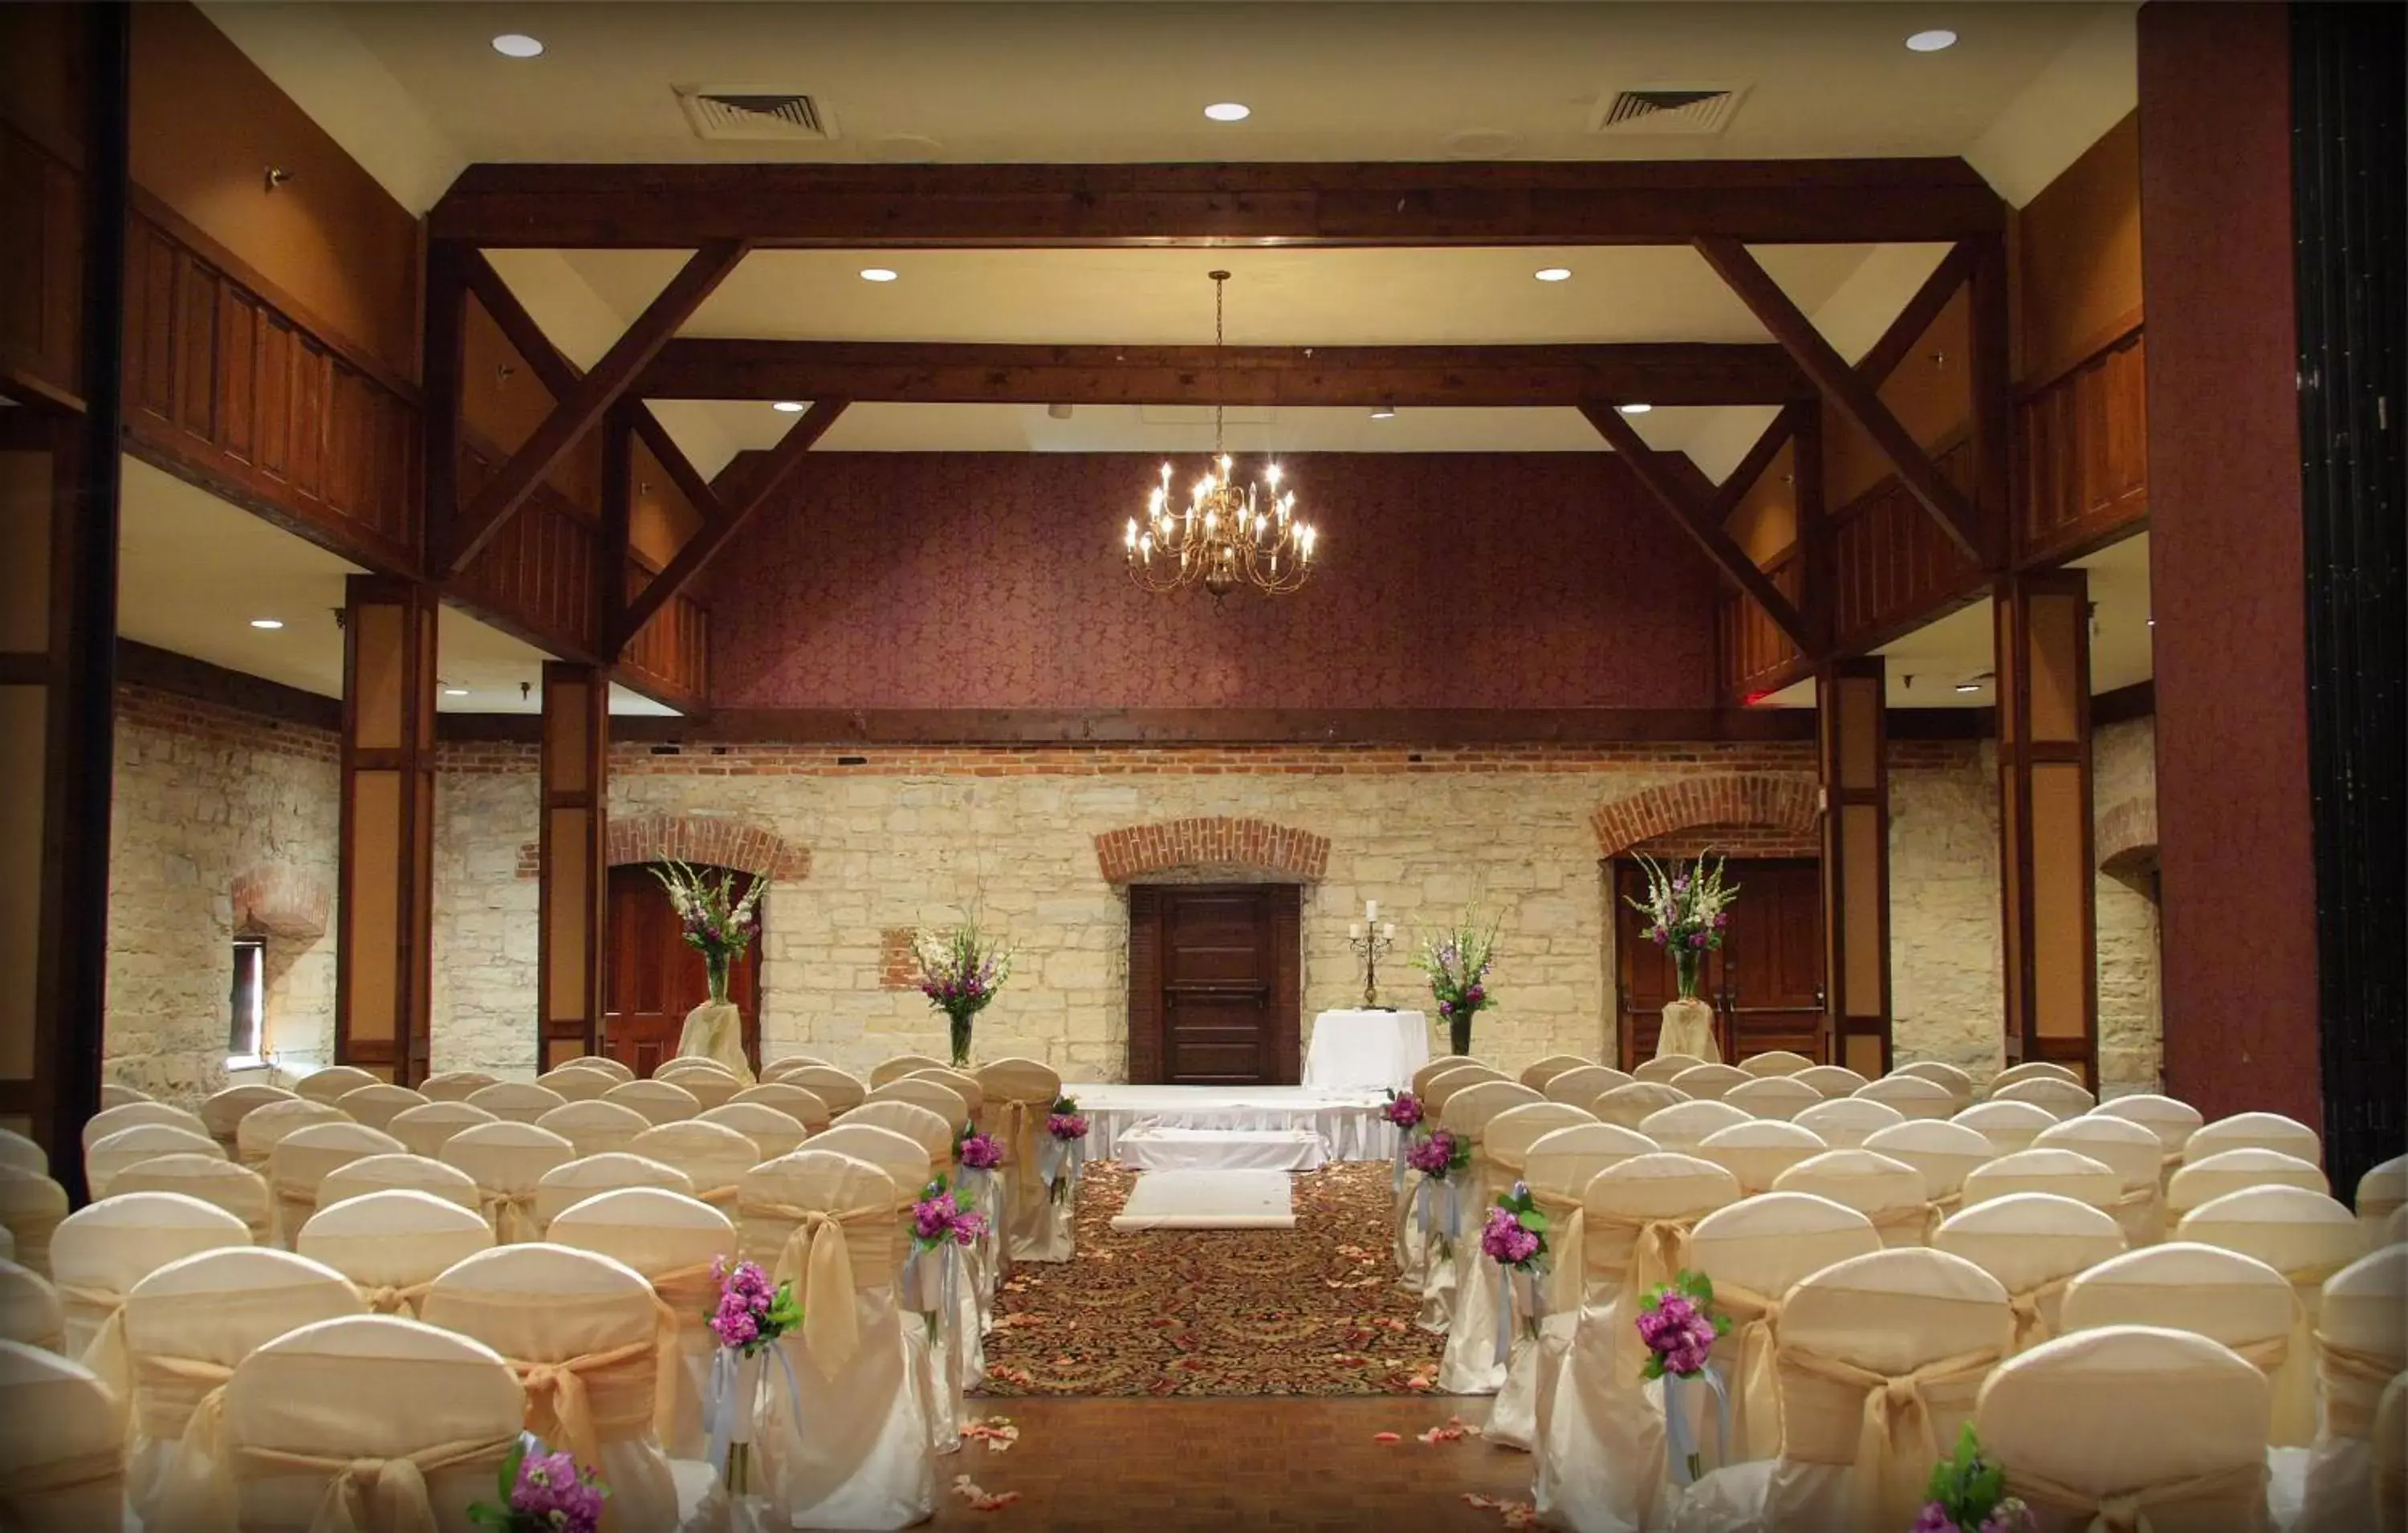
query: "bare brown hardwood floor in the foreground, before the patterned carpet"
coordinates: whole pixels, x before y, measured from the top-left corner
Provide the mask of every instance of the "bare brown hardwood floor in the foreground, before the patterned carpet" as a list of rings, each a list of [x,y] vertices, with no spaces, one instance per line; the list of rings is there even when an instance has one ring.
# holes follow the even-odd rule
[[[1531,1458],[1479,1437],[1421,1444],[1428,1427],[1488,1417],[1486,1398],[1016,1398],[973,1396],[1009,1415],[1019,1444],[963,1444],[937,1461],[934,1528],[1122,1533],[1141,1528],[1493,1531],[1503,1514],[1464,1494],[1527,1502]],[[1399,1442],[1373,1442],[1397,1432]],[[978,1511],[956,1475],[1021,1494]]]

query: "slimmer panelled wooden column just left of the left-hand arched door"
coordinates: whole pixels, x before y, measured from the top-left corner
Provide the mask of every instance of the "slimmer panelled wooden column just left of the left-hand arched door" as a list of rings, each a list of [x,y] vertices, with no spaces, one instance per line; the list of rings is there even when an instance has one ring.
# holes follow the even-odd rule
[[[604,797],[609,671],[544,662],[544,823],[537,859],[537,1061],[551,1069],[602,1042],[602,922],[609,886]]]

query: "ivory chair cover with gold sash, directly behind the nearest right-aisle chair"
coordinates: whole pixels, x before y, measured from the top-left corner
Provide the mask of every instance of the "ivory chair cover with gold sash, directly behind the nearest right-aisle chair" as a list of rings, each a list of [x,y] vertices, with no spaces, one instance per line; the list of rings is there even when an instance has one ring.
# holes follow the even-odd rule
[[[1811,1273],[1775,1326],[1780,1456],[1710,1473],[1674,1528],[1912,1526],[2011,1336],[2006,1290],[1948,1251],[1883,1249]]]

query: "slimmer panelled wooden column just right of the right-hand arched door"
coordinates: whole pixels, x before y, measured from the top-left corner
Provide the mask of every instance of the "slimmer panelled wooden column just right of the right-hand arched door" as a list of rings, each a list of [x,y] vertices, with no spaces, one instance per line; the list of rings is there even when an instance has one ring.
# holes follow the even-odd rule
[[[1823,1054],[1890,1071],[1890,729],[1881,657],[1816,676],[1823,773]]]

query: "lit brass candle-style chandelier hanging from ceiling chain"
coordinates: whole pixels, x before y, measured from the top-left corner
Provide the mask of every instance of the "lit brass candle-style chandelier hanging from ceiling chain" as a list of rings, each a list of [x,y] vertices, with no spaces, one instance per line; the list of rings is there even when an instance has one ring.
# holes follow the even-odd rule
[[[1211,347],[1214,347],[1214,407],[1211,407],[1211,464],[1187,491],[1187,505],[1170,503],[1170,464],[1163,464],[1163,481],[1146,496],[1146,515],[1129,517],[1122,539],[1129,558],[1129,580],[1149,592],[1173,592],[1182,585],[1202,585],[1214,599],[1240,585],[1283,594],[1305,582],[1312,573],[1315,529],[1296,517],[1296,491],[1279,486],[1279,464],[1269,462],[1262,479],[1238,486],[1235,464],[1221,450],[1221,354],[1223,303],[1221,291],[1228,272],[1211,272]]]

